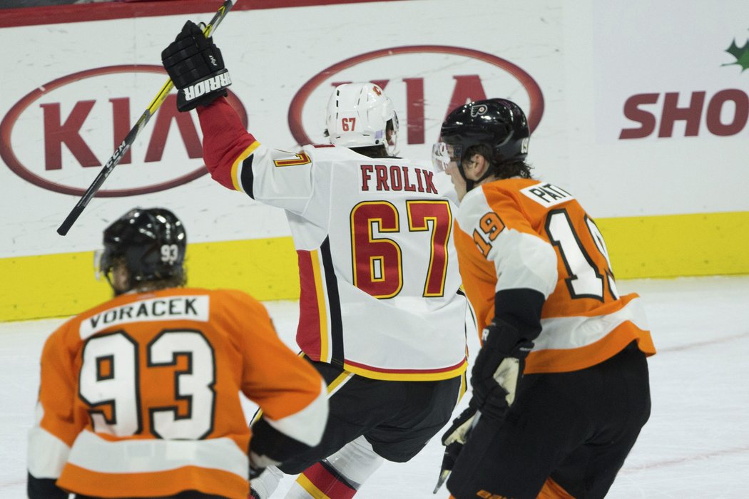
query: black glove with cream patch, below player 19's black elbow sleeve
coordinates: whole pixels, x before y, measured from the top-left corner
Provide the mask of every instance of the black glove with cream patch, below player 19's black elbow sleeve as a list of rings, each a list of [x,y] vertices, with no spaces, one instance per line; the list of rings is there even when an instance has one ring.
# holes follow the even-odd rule
[[[483,345],[471,370],[470,407],[484,417],[503,419],[515,402],[525,358],[533,343],[520,339],[517,328],[494,319],[482,332]]]

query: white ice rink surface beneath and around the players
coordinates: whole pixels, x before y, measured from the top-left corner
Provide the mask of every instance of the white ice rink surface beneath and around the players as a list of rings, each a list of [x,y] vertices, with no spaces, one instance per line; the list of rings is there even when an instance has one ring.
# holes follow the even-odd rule
[[[607,497],[748,497],[749,276],[618,285],[622,293],[643,296],[658,355],[649,362],[652,415]],[[275,301],[267,307],[283,340],[296,350],[297,303]],[[0,322],[2,499],[25,498],[26,432],[33,420],[40,350],[61,322]],[[478,341],[469,340],[475,355]],[[357,498],[444,499],[445,489],[431,494],[441,456],[434,438],[410,462],[386,462]],[[282,498],[292,481],[285,478],[273,498]]]

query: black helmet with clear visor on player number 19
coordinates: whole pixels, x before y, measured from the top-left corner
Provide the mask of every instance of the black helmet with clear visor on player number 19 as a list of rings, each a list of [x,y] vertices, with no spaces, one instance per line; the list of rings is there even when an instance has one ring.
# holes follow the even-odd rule
[[[462,174],[466,151],[479,144],[491,149],[492,157],[487,159],[495,166],[523,161],[528,154],[530,129],[525,113],[515,102],[487,99],[469,102],[450,112],[440,135]]]

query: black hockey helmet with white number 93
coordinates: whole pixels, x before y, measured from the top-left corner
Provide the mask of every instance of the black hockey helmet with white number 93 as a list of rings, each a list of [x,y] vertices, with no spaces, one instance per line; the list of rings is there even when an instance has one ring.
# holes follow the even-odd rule
[[[186,248],[182,222],[169,209],[131,209],[104,230],[99,270],[109,279],[117,260],[124,259],[131,289],[145,281],[182,282]]]

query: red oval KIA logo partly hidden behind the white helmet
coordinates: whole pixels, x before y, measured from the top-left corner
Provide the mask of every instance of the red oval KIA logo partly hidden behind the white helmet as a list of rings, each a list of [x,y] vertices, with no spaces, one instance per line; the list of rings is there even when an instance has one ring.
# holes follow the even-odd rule
[[[386,64],[379,61],[382,58],[388,58]],[[395,102],[401,121],[399,146],[405,135],[408,145],[431,147],[449,111],[471,100],[507,97],[518,102],[527,111],[531,131],[539,126],[544,113],[539,85],[506,59],[455,46],[398,46],[348,58],[309,79],[289,107],[288,125],[294,139],[299,144],[324,142],[320,113],[324,113],[333,85],[357,81],[377,83]],[[331,86],[321,90],[325,82]],[[394,88],[397,86],[401,88]],[[306,111],[311,107],[309,102],[315,102],[315,111]],[[313,129],[315,132],[307,132]]]

